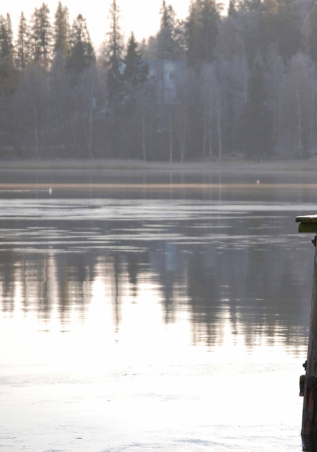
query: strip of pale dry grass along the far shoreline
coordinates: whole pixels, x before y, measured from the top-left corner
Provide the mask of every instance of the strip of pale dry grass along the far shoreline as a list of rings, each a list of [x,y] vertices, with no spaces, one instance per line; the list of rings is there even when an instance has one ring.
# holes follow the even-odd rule
[[[224,162],[144,162],[142,160],[7,160],[1,170],[103,170],[103,171],[317,171],[317,159],[276,160],[254,162],[228,160]]]

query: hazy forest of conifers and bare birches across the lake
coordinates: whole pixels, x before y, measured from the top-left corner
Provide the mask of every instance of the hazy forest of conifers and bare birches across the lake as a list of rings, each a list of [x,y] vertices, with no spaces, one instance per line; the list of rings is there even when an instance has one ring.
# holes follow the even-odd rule
[[[141,14],[141,12],[140,12]],[[317,0],[193,0],[124,42],[116,0],[96,50],[59,2],[0,16],[2,158],[183,161],[317,149]],[[167,69],[166,69],[167,68]],[[169,96],[164,90],[169,90]]]

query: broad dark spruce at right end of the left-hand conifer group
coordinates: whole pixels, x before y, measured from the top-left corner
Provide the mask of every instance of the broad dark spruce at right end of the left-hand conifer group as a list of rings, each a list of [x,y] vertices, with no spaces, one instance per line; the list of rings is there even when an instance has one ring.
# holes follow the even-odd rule
[[[66,67],[74,74],[79,74],[96,60],[86,19],[83,18],[82,14],[78,14],[77,18],[74,19],[70,34],[70,49]]]

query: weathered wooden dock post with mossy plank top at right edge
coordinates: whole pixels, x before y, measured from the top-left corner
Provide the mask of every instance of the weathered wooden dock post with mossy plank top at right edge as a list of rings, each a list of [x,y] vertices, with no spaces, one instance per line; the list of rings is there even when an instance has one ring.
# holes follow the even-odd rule
[[[314,233],[312,240],[315,246],[314,273],[312,282],[312,307],[308,337],[307,361],[303,366],[306,370],[304,383],[304,403],[302,419],[302,437],[317,437],[317,215],[296,217],[300,223],[299,232]],[[303,378],[302,378],[303,380]]]

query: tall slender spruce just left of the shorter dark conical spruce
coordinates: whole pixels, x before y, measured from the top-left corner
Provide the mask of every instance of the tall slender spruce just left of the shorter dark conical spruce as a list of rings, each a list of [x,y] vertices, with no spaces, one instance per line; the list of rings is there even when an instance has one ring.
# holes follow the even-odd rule
[[[116,0],[113,0],[110,9],[110,31],[107,43],[107,79],[109,89],[109,102],[118,107],[123,95],[121,62],[123,53],[123,39],[120,28],[121,11]]]

